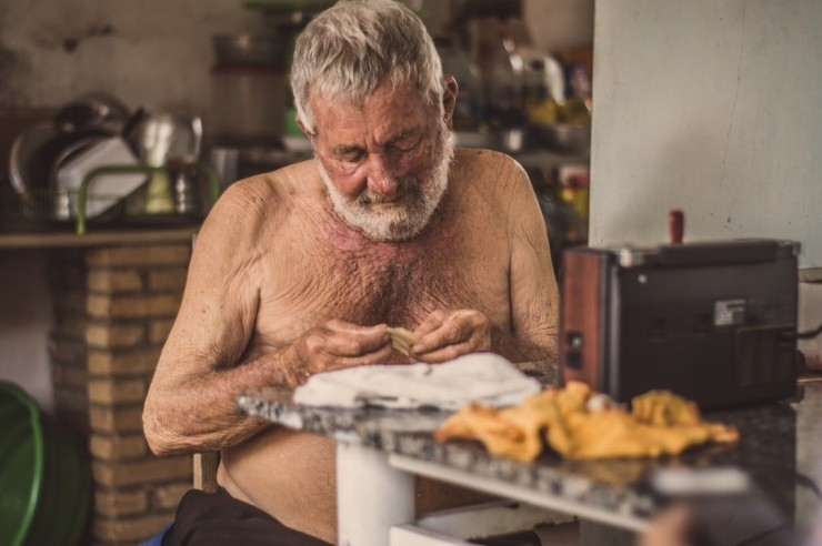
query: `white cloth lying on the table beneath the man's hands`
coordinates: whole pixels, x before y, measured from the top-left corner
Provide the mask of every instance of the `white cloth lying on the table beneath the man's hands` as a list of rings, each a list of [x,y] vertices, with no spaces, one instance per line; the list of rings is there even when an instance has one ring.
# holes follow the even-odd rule
[[[500,355],[474,353],[442,364],[373,365],[312,375],[294,391],[310,406],[459,410],[469,402],[519,404],[542,390]]]

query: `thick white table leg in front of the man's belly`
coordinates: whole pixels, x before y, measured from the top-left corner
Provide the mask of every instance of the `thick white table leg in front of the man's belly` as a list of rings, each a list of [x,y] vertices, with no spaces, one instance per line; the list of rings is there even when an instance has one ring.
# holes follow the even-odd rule
[[[392,468],[388,454],[337,444],[337,522],[342,546],[389,544],[389,528],[414,518],[414,477]]]

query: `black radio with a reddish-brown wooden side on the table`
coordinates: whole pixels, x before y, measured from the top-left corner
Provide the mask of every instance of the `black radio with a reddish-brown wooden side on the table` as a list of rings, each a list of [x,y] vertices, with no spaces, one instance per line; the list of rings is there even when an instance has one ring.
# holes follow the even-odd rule
[[[739,240],[563,253],[560,371],[620,402],[703,408],[796,388],[799,244]]]

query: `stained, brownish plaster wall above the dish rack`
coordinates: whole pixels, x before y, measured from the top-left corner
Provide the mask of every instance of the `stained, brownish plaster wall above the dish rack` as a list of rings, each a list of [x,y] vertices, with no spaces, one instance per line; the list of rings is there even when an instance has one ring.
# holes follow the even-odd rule
[[[103,90],[131,108],[208,114],[212,34],[264,27],[240,0],[2,0],[0,104],[54,107]]]

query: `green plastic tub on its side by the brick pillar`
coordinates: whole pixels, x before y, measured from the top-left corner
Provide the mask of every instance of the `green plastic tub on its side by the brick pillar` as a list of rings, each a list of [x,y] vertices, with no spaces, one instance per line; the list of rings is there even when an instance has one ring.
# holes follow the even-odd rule
[[[78,545],[90,491],[80,438],[21,387],[0,381],[0,544]]]

